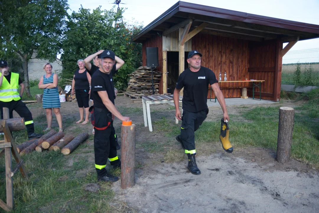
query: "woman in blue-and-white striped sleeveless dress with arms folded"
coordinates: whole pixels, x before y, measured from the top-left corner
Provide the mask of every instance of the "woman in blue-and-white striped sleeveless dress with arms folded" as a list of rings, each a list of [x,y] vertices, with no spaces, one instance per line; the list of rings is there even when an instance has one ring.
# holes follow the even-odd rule
[[[51,129],[53,108],[54,114],[56,114],[56,120],[59,124],[59,132],[63,132],[62,116],[60,113],[61,103],[57,87],[58,76],[52,73],[52,65],[50,63],[46,63],[43,66],[43,69],[46,72],[46,74],[41,76],[38,86],[40,89],[44,89],[42,106],[46,110],[48,123],[48,128],[46,128],[44,131],[48,131]]]

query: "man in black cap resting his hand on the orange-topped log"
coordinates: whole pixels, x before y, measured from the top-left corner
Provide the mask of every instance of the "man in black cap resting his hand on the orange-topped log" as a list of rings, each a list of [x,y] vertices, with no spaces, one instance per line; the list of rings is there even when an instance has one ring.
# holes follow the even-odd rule
[[[104,50],[101,53],[100,68],[94,72],[91,79],[92,98],[94,110],[91,115],[94,134],[95,168],[100,181],[117,181],[118,177],[108,174],[105,166],[109,159],[113,168],[120,167],[121,161],[116,154],[116,143],[111,139],[112,115],[121,121],[130,121],[123,117],[114,106],[114,85],[111,84],[113,66],[115,66],[115,53]]]

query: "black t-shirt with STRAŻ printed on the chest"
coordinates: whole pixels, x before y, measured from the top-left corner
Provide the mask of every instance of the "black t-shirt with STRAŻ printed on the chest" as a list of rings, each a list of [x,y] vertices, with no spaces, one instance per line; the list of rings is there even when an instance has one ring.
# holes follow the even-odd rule
[[[176,89],[184,87],[183,110],[199,112],[207,109],[208,85],[218,82],[214,72],[201,66],[198,72],[189,68],[178,77]]]

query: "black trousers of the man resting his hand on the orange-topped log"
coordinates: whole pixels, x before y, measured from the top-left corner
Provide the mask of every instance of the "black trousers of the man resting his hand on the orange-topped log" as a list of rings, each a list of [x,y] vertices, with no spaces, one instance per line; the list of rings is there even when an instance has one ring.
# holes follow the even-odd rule
[[[108,122],[112,120],[112,116],[110,113],[106,113],[106,111],[99,111],[94,109],[94,117],[95,117],[95,125],[98,128],[102,128],[108,125]],[[105,130],[97,130],[94,128],[94,157],[95,164],[104,166],[108,162],[108,158],[112,159],[117,156],[116,150],[116,141],[115,141],[115,130],[113,127],[113,121],[111,125]],[[111,161],[111,165],[119,163],[119,159],[115,161]],[[107,170],[105,168],[98,169],[96,168],[96,172],[99,177],[102,177],[107,174]]]

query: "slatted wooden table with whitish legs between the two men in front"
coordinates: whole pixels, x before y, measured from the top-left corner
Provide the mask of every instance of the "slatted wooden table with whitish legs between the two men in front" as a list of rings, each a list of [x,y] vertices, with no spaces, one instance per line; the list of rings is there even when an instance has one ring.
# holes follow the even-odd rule
[[[182,102],[183,96],[179,97],[179,102]],[[151,120],[151,111],[150,104],[159,104],[159,103],[174,103],[173,95],[151,95],[151,96],[142,96],[143,103],[143,116],[144,116],[144,126],[147,126],[150,132],[152,129],[152,120]],[[175,123],[178,124],[177,118],[175,118]]]

